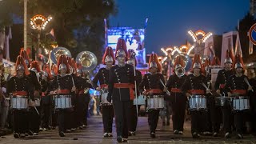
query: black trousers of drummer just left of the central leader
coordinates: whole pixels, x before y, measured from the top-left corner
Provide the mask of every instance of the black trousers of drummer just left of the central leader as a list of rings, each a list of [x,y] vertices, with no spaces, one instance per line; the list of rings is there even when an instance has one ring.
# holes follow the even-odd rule
[[[113,106],[102,106],[102,121],[104,126],[104,133],[112,133],[113,118]]]

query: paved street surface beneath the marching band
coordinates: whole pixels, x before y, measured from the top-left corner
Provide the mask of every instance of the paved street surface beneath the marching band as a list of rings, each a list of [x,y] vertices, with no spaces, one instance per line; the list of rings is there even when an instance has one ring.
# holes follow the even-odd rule
[[[101,117],[91,117],[89,118],[90,125],[85,130],[77,130],[74,133],[66,134],[65,138],[60,138],[58,136],[57,130],[50,130],[46,132],[41,132],[38,136],[28,137],[24,139],[15,139],[13,135],[7,135],[0,138],[1,144],[38,144],[38,143],[118,143],[116,142],[116,134],[114,130],[113,138],[102,138],[102,118]],[[162,121],[159,119],[157,138],[150,138],[147,119],[146,117],[140,117],[138,122],[138,132],[136,136],[129,137],[129,143],[256,143],[256,138],[251,135],[246,135],[243,140],[238,140],[231,138],[226,140],[225,138],[213,138],[213,137],[203,137],[197,140],[191,138],[190,134],[190,122],[185,124],[185,134],[174,135],[171,130],[172,126],[162,126]]]

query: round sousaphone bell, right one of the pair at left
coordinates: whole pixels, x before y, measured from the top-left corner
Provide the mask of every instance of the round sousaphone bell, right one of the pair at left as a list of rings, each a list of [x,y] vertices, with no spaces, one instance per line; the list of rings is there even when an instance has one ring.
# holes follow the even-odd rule
[[[75,58],[76,62],[80,62],[82,65],[82,71],[94,70],[97,66],[97,57],[90,51],[82,51]]]

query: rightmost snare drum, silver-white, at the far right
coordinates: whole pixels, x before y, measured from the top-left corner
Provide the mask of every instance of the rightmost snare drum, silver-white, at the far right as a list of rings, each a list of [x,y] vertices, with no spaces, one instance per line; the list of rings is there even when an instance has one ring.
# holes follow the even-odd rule
[[[232,98],[232,107],[233,110],[249,110],[250,109],[250,102],[249,98],[247,97],[236,97]]]

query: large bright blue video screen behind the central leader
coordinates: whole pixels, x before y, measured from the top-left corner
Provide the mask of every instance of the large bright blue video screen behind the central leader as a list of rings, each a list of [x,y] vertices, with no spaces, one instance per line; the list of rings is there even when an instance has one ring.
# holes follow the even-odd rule
[[[138,66],[146,64],[146,51],[144,47],[144,29],[133,29],[130,27],[114,27],[107,30],[107,45],[114,50],[118,43],[118,38],[126,41],[127,50],[134,50]]]

